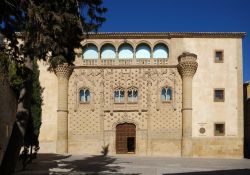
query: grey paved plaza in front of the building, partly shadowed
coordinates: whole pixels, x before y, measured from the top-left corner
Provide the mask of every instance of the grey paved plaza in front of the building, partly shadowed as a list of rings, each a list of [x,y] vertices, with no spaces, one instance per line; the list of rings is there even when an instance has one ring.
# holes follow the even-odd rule
[[[250,159],[39,154],[15,175],[250,175]]]

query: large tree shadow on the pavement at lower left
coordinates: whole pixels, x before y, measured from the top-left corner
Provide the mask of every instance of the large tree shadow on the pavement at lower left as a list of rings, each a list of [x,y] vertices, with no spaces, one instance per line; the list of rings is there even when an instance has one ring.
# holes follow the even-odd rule
[[[45,174],[100,174],[125,175],[120,173],[123,167],[116,166],[116,158],[110,156],[89,156],[83,159],[71,160],[71,155],[38,154],[37,159],[29,164],[24,171],[17,171],[15,175],[45,175]],[[139,175],[127,174],[126,175]]]

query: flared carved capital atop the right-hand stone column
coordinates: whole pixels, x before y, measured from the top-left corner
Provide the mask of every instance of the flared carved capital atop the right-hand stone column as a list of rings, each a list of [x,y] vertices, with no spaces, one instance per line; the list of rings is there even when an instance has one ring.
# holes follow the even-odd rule
[[[197,67],[198,63],[196,62],[197,55],[194,53],[189,52],[183,52],[178,57],[179,64],[177,65],[178,71],[181,75],[181,77],[193,77]]]

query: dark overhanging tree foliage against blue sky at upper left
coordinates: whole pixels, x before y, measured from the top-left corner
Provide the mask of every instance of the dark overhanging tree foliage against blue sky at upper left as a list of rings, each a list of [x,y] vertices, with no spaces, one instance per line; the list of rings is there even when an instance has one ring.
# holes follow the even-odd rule
[[[102,0],[2,0],[0,11],[0,32],[11,41],[15,61],[24,62],[20,55],[50,58],[50,68],[55,68],[72,64],[82,34],[97,31],[107,9]]]

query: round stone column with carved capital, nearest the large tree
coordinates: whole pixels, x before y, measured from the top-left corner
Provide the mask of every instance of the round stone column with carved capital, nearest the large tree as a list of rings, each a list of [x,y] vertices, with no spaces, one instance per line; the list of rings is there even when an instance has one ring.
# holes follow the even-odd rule
[[[57,140],[56,152],[68,152],[68,82],[73,67],[59,65],[55,69],[58,78]]]

